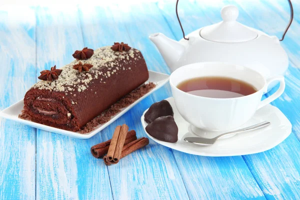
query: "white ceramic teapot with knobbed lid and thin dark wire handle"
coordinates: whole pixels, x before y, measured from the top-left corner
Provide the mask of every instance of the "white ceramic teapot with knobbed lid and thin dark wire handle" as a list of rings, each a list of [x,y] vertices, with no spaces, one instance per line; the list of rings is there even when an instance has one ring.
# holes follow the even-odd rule
[[[291,18],[284,34],[292,21],[291,3],[290,10]],[[288,57],[276,36],[269,36],[237,22],[238,9],[234,5],[223,7],[221,16],[223,21],[199,28],[186,37],[178,18],[183,32],[180,41],[170,39],[162,33],[153,33],[149,38],[157,46],[171,71],[194,62],[223,61],[250,67],[265,78],[285,72]],[[269,88],[273,86],[270,85]]]

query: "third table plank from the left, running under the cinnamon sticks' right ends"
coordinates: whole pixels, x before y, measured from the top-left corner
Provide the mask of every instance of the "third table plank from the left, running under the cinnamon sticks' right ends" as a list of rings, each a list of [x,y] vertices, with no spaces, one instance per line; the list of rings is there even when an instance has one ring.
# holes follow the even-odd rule
[[[135,11],[131,15],[132,9]],[[138,9],[140,7],[114,4],[94,8],[80,6],[84,41],[87,46],[93,48],[123,41],[141,50],[148,68],[167,72],[166,68],[160,66],[161,60],[159,61],[157,51],[146,47],[147,43],[150,45],[147,34],[138,28],[143,26],[138,24],[138,20],[133,20],[135,17],[142,16],[139,11],[136,11]],[[151,12],[146,14],[150,15],[150,18],[154,17]],[[148,22],[150,21],[141,19],[140,23]],[[151,20],[151,23],[157,21]],[[152,103],[150,96],[142,100],[102,130],[100,133],[102,140],[111,138],[114,127],[123,123],[126,123],[130,129],[135,129],[137,137],[146,136],[140,124],[140,116]],[[147,147],[124,157],[117,165],[107,168],[114,199],[188,198],[172,152],[153,141],[150,141]]]

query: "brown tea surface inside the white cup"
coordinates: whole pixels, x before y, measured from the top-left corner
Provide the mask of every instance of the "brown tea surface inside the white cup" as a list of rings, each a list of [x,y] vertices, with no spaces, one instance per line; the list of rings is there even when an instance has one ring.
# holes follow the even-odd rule
[[[184,80],[177,88],[190,94],[211,98],[234,98],[256,92],[254,86],[242,80],[205,76]]]

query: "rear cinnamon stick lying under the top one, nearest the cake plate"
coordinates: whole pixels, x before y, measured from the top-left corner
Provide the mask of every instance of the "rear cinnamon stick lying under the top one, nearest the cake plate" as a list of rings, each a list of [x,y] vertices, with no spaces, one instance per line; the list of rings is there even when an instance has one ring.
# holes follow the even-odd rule
[[[135,139],[136,139],[135,130],[128,131],[124,145],[131,141],[134,141]],[[110,142],[111,142],[111,139],[101,142],[101,143],[98,143],[96,145],[93,145],[92,147],[90,147],[91,154],[96,158],[102,157],[103,155],[105,155],[108,152]]]

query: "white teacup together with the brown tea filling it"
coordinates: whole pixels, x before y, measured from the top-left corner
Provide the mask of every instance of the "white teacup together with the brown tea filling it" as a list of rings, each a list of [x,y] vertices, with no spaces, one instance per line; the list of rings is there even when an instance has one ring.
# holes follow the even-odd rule
[[[261,100],[268,85],[279,81],[272,95]],[[170,75],[176,107],[191,125],[212,131],[235,129],[284,91],[284,77],[267,80],[250,68],[224,62],[198,62],[179,67]]]

